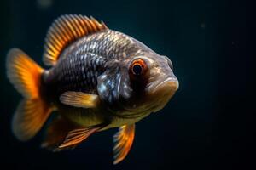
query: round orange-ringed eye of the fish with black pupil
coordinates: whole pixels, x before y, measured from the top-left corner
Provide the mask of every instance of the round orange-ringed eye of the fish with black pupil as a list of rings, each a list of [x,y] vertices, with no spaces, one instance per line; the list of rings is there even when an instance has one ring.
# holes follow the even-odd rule
[[[135,59],[131,63],[131,67],[130,67],[132,74],[135,76],[140,76],[140,75],[144,74],[144,72],[147,69],[148,69],[148,67],[143,59]]]

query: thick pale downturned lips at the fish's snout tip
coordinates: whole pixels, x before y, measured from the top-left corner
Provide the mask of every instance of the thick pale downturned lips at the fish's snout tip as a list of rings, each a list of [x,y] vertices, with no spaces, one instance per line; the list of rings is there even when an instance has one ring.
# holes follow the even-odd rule
[[[158,91],[160,88],[163,88],[165,86],[173,91],[177,91],[177,89],[179,87],[177,78],[176,77],[167,77],[166,80],[164,80],[164,81],[158,83],[156,86],[154,86],[154,89],[152,92],[154,93],[154,92]]]

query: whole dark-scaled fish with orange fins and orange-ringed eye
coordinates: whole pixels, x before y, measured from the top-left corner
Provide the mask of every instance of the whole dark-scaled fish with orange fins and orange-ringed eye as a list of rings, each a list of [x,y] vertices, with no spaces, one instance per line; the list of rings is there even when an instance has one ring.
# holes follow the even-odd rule
[[[15,138],[27,141],[45,127],[41,146],[60,151],[117,127],[113,164],[131,150],[135,123],[163,109],[179,86],[171,59],[81,14],[52,23],[43,61],[47,69],[19,48],[7,54],[7,77],[23,96],[11,122]]]

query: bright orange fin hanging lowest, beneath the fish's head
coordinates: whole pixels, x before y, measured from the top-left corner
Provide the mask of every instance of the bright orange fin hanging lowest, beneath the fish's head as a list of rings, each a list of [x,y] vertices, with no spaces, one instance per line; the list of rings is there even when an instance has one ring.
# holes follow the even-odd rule
[[[119,127],[119,132],[113,136],[113,164],[117,164],[125,159],[134,139],[135,124]]]

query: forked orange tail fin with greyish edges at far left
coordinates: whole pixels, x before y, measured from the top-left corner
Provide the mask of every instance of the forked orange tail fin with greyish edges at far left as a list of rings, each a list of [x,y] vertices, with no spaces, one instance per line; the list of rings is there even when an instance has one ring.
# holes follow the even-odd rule
[[[38,133],[51,112],[39,92],[44,70],[18,48],[9,51],[6,68],[9,81],[25,98],[15,111],[12,130],[17,139],[26,141]]]

